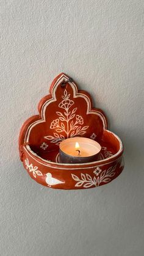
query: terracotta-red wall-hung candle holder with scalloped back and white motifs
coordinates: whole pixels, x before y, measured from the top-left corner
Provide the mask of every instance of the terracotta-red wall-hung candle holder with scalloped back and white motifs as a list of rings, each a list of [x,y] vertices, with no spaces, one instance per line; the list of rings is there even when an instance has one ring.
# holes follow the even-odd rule
[[[123,170],[123,144],[107,130],[107,118],[93,108],[90,95],[78,90],[64,73],[38,104],[38,115],[26,120],[19,138],[20,159],[27,173],[43,186],[85,189],[105,185]],[[87,137],[101,145],[101,157],[91,163],[59,163],[59,144],[69,137]]]

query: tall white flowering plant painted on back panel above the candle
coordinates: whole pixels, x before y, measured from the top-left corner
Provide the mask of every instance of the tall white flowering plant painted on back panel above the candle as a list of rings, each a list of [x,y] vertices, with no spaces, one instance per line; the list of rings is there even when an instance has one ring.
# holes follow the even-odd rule
[[[82,126],[84,119],[81,115],[76,114],[77,108],[70,109],[74,101],[70,100],[70,94],[68,94],[66,89],[62,98],[63,100],[59,103],[59,108],[63,110],[62,112],[56,112],[59,117],[52,120],[50,125],[50,128],[55,129],[57,133],[54,132],[53,136],[45,136],[45,139],[56,145],[59,145],[60,141],[63,141],[65,138],[85,134],[88,128],[88,126]]]

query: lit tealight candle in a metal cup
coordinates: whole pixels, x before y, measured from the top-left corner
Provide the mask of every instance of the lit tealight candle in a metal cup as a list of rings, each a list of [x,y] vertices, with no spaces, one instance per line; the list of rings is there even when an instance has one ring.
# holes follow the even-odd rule
[[[60,142],[60,163],[90,163],[99,159],[101,146],[93,139],[73,137]]]

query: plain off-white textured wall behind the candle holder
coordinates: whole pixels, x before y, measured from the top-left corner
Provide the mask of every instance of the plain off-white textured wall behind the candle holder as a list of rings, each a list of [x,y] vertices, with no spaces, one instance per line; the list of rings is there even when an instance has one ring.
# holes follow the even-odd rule
[[[143,10],[143,0],[1,1],[1,256],[143,256]],[[124,172],[101,188],[43,188],[20,162],[20,127],[62,71],[123,139]]]

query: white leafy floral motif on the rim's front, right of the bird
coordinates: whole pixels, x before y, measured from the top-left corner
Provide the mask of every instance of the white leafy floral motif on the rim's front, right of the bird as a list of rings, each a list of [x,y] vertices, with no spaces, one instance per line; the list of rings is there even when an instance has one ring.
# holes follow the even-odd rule
[[[73,180],[77,181],[74,185],[75,187],[82,186],[83,188],[90,188],[92,186],[100,186],[101,183],[108,183],[112,180],[112,177],[115,175],[116,166],[109,167],[107,170],[101,170],[99,167],[93,171],[94,177],[90,176],[89,174],[81,174],[81,178],[77,177],[75,174],[71,174]],[[97,175],[98,170],[98,175]]]

